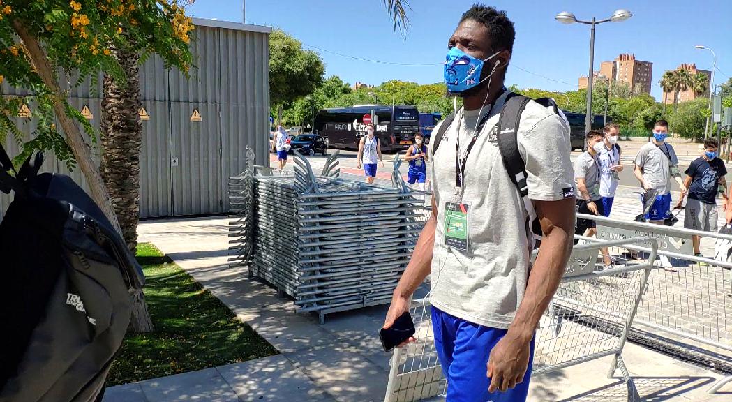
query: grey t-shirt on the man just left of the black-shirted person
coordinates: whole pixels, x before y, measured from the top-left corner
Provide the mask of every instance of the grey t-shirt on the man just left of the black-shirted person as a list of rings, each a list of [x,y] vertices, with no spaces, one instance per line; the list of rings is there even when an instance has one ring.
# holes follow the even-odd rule
[[[666,143],[656,146],[653,142],[649,142],[641,146],[634,163],[641,168],[646,183],[658,190],[659,196],[671,193],[671,166],[679,164],[673,146]]]

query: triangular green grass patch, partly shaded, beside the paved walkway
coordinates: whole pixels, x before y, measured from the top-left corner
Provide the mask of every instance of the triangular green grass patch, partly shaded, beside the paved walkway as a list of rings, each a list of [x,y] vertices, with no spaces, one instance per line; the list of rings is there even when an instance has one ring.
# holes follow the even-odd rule
[[[139,245],[137,258],[145,272],[145,299],[155,331],[125,336],[109,386],[277,354],[153,245]]]

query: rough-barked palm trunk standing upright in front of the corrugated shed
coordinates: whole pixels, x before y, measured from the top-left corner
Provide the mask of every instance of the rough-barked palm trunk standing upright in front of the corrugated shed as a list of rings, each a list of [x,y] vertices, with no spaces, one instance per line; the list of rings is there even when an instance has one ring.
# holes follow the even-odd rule
[[[102,99],[102,179],[122,228],[122,237],[130,252],[137,248],[137,226],[140,217],[140,149],[142,123],[138,111],[140,101],[139,55],[112,48],[122,66],[126,82],[117,83],[109,75],[104,78]],[[152,332],[154,326],[145,304],[142,289],[130,289],[132,296],[132,330]]]

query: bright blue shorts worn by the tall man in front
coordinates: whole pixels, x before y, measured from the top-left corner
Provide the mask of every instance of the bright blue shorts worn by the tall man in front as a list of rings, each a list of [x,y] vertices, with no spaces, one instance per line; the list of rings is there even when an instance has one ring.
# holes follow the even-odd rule
[[[435,350],[447,378],[446,402],[521,402],[529,393],[534,340],[531,340],[529,368],[523,382],[506,392],[488,392],[488,357],[507,330],[483,327],[432,308]]]

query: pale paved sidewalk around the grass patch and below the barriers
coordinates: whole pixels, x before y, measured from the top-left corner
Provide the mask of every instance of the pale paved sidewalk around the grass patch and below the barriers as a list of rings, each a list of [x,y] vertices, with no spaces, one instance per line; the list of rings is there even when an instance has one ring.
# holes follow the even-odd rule
[[[316,316],[296,314],[290,299],[248,280],[246,269],[228,267],[227,223],[226,217],[148,221],[140,240],[160,247],[281,354],[111,387],[105,401],[383,401],[389,355],[376,331],[386,307],[329,315],[323,326]],[[646,400],[731,398],[730,386],[706,393],[721,378],[717,373],[632,344],[624,360]],[[537,376],[529,401],[625,401],[624,384],[607,378],[609,365],[605,358]]]

